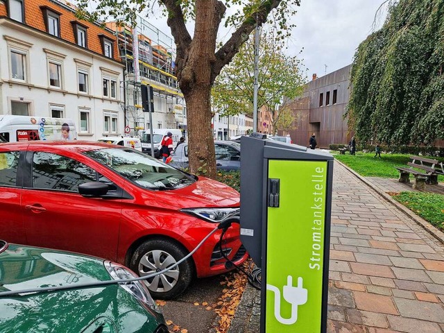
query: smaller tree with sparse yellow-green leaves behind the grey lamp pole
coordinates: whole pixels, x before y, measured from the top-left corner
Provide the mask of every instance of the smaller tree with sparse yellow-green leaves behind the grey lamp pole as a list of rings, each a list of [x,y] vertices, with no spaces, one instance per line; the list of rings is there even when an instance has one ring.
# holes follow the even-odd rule
[[[213,105],[223,115],[253,114],[254,45],[254,36],[250,35],[232,62],[216,78],[212,89]],[[300,60],[296,56],[287,56],[286,47],[275,28],[262,30],[258,57],[257,107],[265,106],[270,112],[274,131],[278,130],[279,125],[290,126],[293,119],[289,119],[291,112],[287,112],[288,104],[302,94]]]

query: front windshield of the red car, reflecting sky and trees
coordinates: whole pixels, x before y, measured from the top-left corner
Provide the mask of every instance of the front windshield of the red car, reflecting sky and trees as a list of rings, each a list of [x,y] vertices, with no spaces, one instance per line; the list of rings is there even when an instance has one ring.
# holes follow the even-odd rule
[[[85,155],[146,189],[178,189],[196,182],[194,176],[134,149],[105,148],[87,151]]]

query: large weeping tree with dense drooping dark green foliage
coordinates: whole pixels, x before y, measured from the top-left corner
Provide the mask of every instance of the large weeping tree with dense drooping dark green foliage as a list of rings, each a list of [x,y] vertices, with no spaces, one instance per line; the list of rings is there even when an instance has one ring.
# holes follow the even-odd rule
[[[386,2],[355,53],[349,128],[361,142],[429,146],[444,138],[444,0]]]

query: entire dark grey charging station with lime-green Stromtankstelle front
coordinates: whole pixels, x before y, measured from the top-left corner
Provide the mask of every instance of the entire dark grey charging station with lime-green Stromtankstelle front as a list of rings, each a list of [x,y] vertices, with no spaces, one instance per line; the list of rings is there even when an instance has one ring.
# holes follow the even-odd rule
[[[241,137],[241,241],[261,276],[261,332],[327,332],[334,159]]]

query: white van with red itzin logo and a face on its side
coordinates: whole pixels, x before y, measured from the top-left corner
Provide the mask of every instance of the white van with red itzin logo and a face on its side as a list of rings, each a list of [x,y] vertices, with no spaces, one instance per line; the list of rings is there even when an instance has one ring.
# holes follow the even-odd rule
[[[0,115],[0,136],[7,142],[32,140],[74,140],[76,126],[71,119]]]

